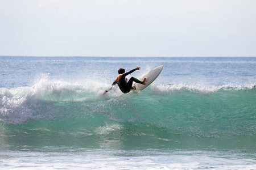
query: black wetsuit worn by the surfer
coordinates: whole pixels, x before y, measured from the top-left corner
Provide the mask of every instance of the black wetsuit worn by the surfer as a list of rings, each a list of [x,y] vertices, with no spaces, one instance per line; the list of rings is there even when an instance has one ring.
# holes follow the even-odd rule
[[[133,86],[133,82],[143,84],[142,81],[140,81],[140,80],[138,80],[137,78],[134,78],[134,77],[131,77],[129,82],[126,81],[125,76],[128,75],[128,74],[133,73],[135,70],[137,70],[137,69],[133,69],[133,70],[130,70],[130,71],[126,72],[126,73],[123,73],[122,76],[121,76],[121,79],[119,79],[119,81],[115,80],[113,82],[112,86],[114,86],[115,84],[118,84],[118,87],[120,88],[120,90],[124,94],[126,94],[126,93],[131,91],[131,86]]]

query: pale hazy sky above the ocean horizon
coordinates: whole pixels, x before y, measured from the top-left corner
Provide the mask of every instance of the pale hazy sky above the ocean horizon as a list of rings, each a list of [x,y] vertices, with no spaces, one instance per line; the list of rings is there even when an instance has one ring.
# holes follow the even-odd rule
[[[256,1],[0,0],[0,56],[256,57]]]

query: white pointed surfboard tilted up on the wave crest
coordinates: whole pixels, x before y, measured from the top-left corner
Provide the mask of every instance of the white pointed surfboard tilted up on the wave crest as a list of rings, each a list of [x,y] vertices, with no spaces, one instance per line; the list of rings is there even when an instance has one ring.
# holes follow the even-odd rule
[[[135,91],[141,91],[144,88],[146,88],[147,86],[149,86],[152,82],[154,82],[154,80],[158,77],[158,75],[161,73],[162,70],[163,70],[163,65],[156,67],[155,69],[149,71],[147,74],[145,74],[141,78],[139,78],[139,80],[143,81],[143,79],[146,77],[147,82],[145,85],[135,83],[135,85],[134,85]]]

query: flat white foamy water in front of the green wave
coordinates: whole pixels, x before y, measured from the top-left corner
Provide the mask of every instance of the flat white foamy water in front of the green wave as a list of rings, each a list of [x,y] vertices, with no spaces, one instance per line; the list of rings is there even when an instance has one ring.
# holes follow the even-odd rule
[[[97,151],[81,153],[1,152],[8,155],[1,160],[4,169],[256,169],[255,160],[214,156],[212,153],[191,152],[164,154],[164,152]],[[108,154],[108,155],[107,155]],[[135,154],[135,155],[134,155]],[[187,154],[187,155],[186,155]],[[129,156],[130,155],[130,156]],[[226,157],[226,158],[225,158]]]

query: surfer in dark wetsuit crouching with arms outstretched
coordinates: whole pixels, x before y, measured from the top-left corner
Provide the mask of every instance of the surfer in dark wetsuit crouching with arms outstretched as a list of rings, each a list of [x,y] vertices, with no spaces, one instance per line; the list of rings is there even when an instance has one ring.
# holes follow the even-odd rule
[[[120,88],[120,90],[126,94],[128,92],[131,91],[131,88],[133,86],[133,82],[136,82],[136,83],[140,83],[140,84],[143,84],[145,85],[146,84],[146,81],[147,81],[147,78],[145,77],[143,79],[143,82],[138,80],[137,78],[134,78],[134,77],[131,77],[129,82],[127,82],[127,79],[125,78],[126,75],[128,74],[131,74],[133,73],[135,70],[140,70],[141,67],[137,67],[136,69],[133,69],[133,70],[130,70],[128,72],[125,73],[125,69],[119,69],[118,70],[118,76],[117,78],[115,79],[115,81],[112,83],[111,87],[109,88],[109,90],[106,90],[104,92],[104,94],[102,95],[105,95],[108,91],[110,91],[112,89],[112,87],[115,85],[115,84],[118,84],[118,87]]]

